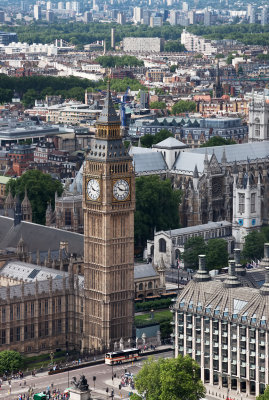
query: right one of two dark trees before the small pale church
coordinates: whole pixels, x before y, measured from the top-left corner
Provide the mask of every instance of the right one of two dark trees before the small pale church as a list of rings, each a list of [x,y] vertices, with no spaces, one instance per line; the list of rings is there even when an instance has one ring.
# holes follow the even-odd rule
[[[206,264],[209,270],[228,265],[228,248],[224,239],[210,239],[206,246]]]

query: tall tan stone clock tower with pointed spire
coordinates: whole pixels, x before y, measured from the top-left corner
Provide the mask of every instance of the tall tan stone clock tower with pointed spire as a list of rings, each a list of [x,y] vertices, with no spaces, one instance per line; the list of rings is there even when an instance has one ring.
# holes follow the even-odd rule
[[[108,86],[83,173],[84,349],[132,337],[135,182]]]

